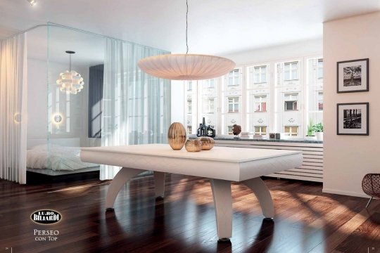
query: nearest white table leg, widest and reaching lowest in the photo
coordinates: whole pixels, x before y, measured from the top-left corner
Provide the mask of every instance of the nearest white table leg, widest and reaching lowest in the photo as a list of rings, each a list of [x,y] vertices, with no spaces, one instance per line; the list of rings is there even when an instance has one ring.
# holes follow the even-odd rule
[[[222,241],[229,240],[232,237],[231,182],[211,179],[211,188],[214,196],[217,236]]]

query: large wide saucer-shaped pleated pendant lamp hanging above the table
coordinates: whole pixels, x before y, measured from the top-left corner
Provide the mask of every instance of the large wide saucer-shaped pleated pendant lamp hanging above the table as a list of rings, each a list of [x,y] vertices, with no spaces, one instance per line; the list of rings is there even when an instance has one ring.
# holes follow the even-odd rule
[[[201,54],[189,54],[187,45],[186,0],[186,53],[151,56],[139,60],[139,67],[154,77],[172,80],[203,80],[220,77],[234,69],[235,63],[227,58]]]

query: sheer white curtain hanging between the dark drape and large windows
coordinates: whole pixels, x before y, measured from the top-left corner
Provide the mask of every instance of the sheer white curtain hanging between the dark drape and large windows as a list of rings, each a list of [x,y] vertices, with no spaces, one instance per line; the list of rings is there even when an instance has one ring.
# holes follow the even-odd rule
[[[170,81],[151,77],[137,66],[141,58],[167,53],[107,39],[104,63],[101,144],[166,143],[170,126]],[[120,167],[101,165],[101,179]]]

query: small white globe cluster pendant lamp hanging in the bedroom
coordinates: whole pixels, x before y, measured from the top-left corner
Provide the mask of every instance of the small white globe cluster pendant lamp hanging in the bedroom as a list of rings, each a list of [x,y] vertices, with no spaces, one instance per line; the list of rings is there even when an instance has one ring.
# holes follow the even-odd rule
[[[76,94],[83,89],[83,77],[76,72],[71,70],[71,55],[75,53],[74,51],[66,51],[70,56],[70,67],[69,70],[59,74],[57,79],[57,85],[60,91],[65,92],[66,94]]]

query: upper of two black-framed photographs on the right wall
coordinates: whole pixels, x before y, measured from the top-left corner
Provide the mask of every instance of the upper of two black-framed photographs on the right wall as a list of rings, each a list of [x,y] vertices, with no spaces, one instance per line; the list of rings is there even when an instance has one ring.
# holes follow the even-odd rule
[[[337,63],[337,92],[369,91],[369,59],[345,60]]]

